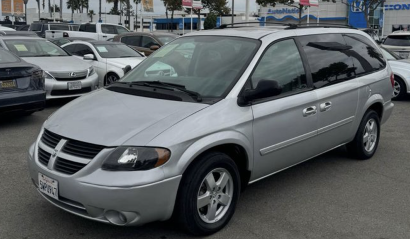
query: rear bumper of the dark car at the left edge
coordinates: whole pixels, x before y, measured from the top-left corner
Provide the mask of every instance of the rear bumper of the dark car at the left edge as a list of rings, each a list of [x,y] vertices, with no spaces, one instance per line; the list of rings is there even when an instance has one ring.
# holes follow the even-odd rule
[[[46,105],[44,90],[16,91],[0,94],[0,113],[43,110]]]

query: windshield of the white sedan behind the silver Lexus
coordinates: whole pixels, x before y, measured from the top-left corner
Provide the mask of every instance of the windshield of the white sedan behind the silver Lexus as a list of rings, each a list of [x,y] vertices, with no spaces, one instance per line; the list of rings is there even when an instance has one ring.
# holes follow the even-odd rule
[[[131,47],[122,44],[96,45],[96,50],[102,58],[142,57]]]

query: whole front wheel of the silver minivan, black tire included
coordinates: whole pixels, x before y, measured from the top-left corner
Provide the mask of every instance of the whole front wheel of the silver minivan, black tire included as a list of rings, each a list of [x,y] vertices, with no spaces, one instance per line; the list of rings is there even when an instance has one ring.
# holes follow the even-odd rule
[[[222,177],[227,181],[221,180]],[[221,181],[226,183],[219,188],[223,185]],[[224,153],[204,154],[183,174],[176,202],[176,217],[181,226],[194,235],[213,234],[231,220],[239,194],[240,176],[235,162]],[[198,203],[204,206],[198,209]]]

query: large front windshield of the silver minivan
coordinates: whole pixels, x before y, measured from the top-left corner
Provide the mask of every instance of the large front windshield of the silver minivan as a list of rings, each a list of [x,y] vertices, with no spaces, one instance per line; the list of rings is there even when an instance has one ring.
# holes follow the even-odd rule
[[[181,37],[150,55],[121,82],[159,81],[220,98],[242,75],[258,47],[259,41],[241,37]]]

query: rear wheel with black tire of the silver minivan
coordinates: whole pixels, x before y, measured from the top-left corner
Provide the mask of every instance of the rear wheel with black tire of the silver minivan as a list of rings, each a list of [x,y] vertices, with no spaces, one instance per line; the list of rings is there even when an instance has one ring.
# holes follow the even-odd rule
[[[355,139],[347,145],[348,152],[359,160],[368,160],[375,155],[380,140],[380,118],[374,110],[368,110]]]

